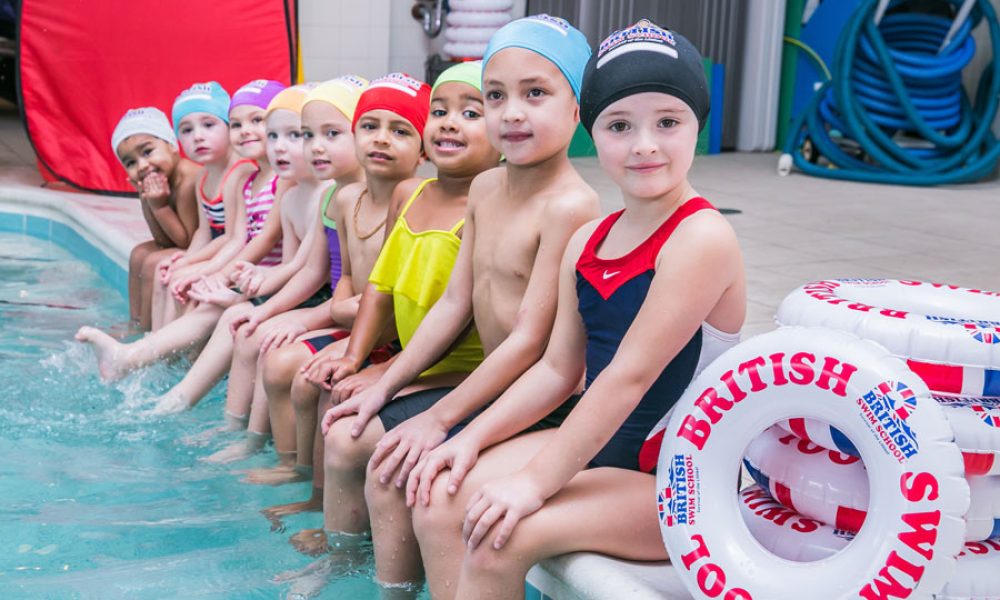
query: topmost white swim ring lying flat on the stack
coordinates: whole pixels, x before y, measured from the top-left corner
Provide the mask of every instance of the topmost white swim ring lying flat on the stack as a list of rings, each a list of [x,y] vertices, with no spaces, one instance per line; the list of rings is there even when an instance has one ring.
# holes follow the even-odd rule
[[[776,320],[878,342],[907,360],[935,392],[1000,396],[1000,292],[895,279],[827,279],[789,294]]]

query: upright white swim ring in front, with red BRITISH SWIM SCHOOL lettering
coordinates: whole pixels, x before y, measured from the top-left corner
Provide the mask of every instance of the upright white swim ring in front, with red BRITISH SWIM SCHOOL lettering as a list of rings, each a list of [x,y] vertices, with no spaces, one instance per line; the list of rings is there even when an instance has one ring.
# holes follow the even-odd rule
[[[886,382],[893,392],[882,394]],[[873,405],[905,440],[889,447],[875,433],[862,418]],[[844,551],[817,562],[790,562],[761,546],[733,490],[750,442],[794,416],[838,427],[872,473],[871,518]],[[954,570],[969,507],[961,454],[926,385],[876,344],[801,327],[752,338],[692,382],[665,431],[656,475],[661,532],[696,598],[800,600],[803,590],[865,598],[886,585],[929,598]]]

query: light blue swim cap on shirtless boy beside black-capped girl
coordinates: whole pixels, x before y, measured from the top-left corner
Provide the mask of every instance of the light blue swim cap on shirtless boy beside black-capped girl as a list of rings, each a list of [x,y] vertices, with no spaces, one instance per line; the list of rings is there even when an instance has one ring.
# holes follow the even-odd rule
[[[494,54],[505,48],[524,48],[551,61],[566,76],[576,101],[580,101],[580,82],[590,58],[590,44],[587,37],[565,19],[542,14],[507,23],[486,45],[483,68]]]

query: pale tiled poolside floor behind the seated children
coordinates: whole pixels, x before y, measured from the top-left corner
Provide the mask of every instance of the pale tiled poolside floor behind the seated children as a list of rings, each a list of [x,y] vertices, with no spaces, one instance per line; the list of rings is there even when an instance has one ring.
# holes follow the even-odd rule
[[[605,212],[621,206],[617,188],[593,158],[574,159],[601,194]],[[770,153],[698,157],[692,181],[730,217],[749,282],[745,332],[774,327],[781,299],[806,281],[889,277],[1000,290],[1000,182],[908,188],[776,175]],[[0,185],[39,185],[30,144],[16,114],[0,107]],[[74,194],[142,231],[134,201]],[[110,204],[111,206],[107,206]],[[137,229],[138,228],[138,229]]]

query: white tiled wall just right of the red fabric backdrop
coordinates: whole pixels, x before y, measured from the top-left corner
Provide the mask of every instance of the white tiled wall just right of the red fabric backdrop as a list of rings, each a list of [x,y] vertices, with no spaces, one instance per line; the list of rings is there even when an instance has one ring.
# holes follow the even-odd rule
[[[514,17],[527,0],[514,0]],[[354,73],[369,79],[392,71],[424,76],[424,62],[440,52],[410,15],[411,0],[299,0],[299,35],[307,81]]]

